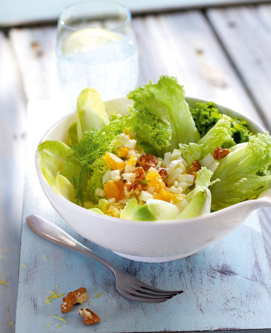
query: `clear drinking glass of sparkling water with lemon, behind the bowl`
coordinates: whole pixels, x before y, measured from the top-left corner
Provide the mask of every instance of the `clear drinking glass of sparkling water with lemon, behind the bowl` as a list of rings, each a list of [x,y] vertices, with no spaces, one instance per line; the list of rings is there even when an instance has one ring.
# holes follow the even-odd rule
[[[57,24],[56,55],[59,82],[72,105],[86,87],[103,100],[126,95],[138,77],[130,10],[107,0],[65,7]]]

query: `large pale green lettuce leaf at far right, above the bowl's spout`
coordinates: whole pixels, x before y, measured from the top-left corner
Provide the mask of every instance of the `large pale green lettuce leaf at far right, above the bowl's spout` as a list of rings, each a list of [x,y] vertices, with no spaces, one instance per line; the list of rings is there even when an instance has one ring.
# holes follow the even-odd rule
[[[212,210],[254,199],[271,181],[271,137],[268,132],[251,136],[248,143],[233,147],[213,174],[221,181],[211,187]]]

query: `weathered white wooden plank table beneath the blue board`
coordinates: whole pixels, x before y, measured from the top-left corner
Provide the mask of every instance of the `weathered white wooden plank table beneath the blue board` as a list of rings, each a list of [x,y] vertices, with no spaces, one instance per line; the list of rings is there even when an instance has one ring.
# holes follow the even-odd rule
[[[140,51],[139,84],[156,81],[162,74],[177,76],[187,96],[235,109],[270,131],[270,4],[136,16],[134,27]],[[27,104],[61,96],[55,37],[55,25],[13,28],[6,35],[0,31],[1,333],[14,332]],[[259,216],[270,264],[270,209],[261,209]]]

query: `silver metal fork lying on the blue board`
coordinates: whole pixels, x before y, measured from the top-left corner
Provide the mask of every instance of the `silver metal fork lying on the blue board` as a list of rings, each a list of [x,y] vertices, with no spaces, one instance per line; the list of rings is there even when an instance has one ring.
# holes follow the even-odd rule
[[[153,288],[136,277],[123,273],[117,267],[113,266],[109,261],[100,257],[89,248],[79,243],[71,237],[67,232],[59,228],[57,225],[49,222],[38,215],[31,215],[26,218],[30,228],[40,236],[51,240],[54,243],[66,246],[75,251],[88,255],[100,264],[108,268],[115,277],[116,289],[124,297],[131,301],[145,303],[160,303],[167,301],[171,297],[181,294],[183,290],[170,291]]]

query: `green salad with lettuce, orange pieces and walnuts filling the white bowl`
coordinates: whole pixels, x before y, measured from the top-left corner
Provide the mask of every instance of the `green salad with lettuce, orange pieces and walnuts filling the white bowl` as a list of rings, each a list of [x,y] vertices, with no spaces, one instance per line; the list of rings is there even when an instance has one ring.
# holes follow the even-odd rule
[[[99,214],[134,220],[196,217],[256,198],[271,181],[271,137],[219,112],[189,107],[176,78],[127,95],[129,113],[108,114],[84,89],[69,142],[38,147],[52,188]]]

